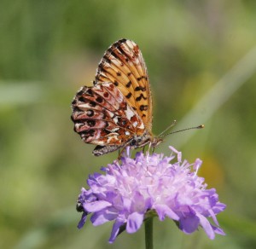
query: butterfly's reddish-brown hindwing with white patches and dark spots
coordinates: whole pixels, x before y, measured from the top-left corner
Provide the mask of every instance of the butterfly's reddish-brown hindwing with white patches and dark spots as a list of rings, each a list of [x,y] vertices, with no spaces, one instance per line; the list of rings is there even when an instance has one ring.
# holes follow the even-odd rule
[[[106,147],[103,153],[123,148],[145,130],[142,119],[111,82],[82,87],[72,107],[74,130],[84,142]]]

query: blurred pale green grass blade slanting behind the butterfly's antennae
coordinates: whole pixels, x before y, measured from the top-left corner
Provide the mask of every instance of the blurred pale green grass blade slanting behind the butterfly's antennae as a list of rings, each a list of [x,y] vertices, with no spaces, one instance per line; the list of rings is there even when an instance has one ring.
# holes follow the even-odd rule
[[[178,122],[176,130],[187,127],[188,124],[200,125],[207,122],[207,120],[212,117],[212,114],[215,113],[242,84],[245,84],[247,79],[251,78],[255,72],[256,46],[244,55],[223,78],[220,78],[206,95],[201,97],[195,107]],[[172,136],[172,138],[170,137],[169,139],[170,142],[171,140],[172,142],[175,140],[176,146],[180,148],[188,142],[194,134],[195,130],[190,130],[186,136],[179,136],[176,140],[175,137]]]

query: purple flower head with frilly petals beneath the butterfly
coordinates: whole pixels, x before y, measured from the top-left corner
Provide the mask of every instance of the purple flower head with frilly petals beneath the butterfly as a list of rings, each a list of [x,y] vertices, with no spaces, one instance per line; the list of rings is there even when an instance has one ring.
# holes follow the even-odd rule
[[[191,165],[182,161],[182,154],[175,148],[170,149],[169,157],[140,152],[131,159],[127,148],[120,164],[115,160],[102,168],[104,175],[91,175],[87,180],[90,188],[82,188],[79,195],[77,207],[83,211],[79,229],[92,213],[90,221],[95,226],[113,221],[110,243],[121,229],[135,233],[143,220],[152,216],[160,221],[171,218],[185,234],[202,227],[212,240],[215,234],[224,235],[216,215],[225,205],[218,201],[216,190],[207,189],[204,179],[197,176],[201,159]]]

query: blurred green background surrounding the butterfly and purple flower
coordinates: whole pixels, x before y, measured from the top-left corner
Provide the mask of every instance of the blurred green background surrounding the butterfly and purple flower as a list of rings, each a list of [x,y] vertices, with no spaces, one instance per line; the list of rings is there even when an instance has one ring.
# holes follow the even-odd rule
[[[73,132],[71,101],[119,38],[143,51],[154,96],[154,133],[193,162],[227,209],[226,236],[183,235],[154,221],[155,248],[256,247],[256,2],[7,1],[0,3],[0,247],[143,248],[143,228],[108,244],[112,224],[78,230],[75,204],[93,157]]]

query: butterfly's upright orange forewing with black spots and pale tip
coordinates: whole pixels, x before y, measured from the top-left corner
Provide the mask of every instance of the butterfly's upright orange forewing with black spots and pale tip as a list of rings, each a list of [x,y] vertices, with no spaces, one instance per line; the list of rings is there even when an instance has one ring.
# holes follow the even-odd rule
[[[113,83],[151,134],[152,97],[148,72],[136,43],[126,39],[113,43],[98,66],[96,84],[98,82]]]

